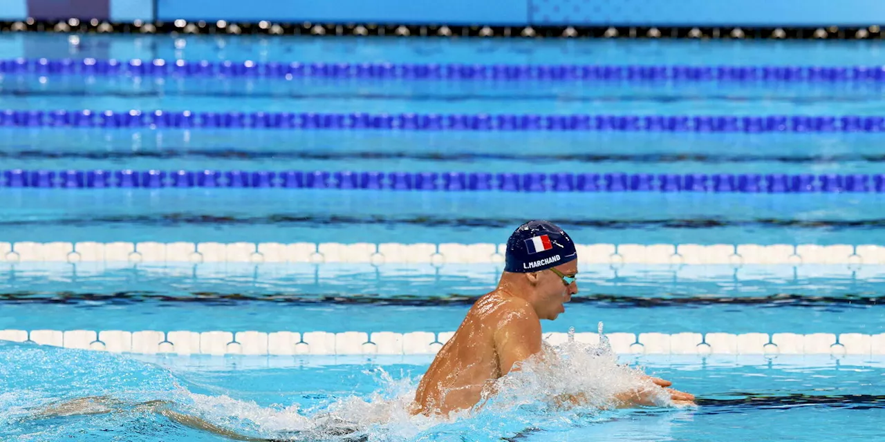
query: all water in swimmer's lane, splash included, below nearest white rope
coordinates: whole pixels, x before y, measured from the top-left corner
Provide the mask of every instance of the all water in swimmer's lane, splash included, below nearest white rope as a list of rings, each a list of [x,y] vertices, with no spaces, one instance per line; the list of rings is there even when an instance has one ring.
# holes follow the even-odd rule
[[[192,357],[174,360],[187,363],[158,358],[160,366],[126,355],[4,342],[0,439],[229,439],[196,431],[174,414],[248,438],[336,442],[796,438],[809,428],[825,433],[849,420],[858,439],[872,440],[881,431],[881,362],[672,359],[652,366],[674,386],[700,393],[698,408],[600,410],[612,392],[637,385],[638,371],[618,365],[604,345],[566,342],[548,352],[543,364],[529,362],[505,377],[481,408],[429,418],[407,411],[426,362],[304,368],[312,362],[290,358],[281,369],[265,363],[252,370],[234,369],[236,362],[204,365],[208,359]],[[556,400],[580,392],[588,404],[569,408]],[[105,399],[39,416],[90,396]]]

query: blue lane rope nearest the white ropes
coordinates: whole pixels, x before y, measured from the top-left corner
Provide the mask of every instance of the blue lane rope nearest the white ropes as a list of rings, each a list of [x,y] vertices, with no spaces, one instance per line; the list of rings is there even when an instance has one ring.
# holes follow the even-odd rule
[[[310,188],[504,192],[885,193],[885,174],[0,171],[0,188]]]

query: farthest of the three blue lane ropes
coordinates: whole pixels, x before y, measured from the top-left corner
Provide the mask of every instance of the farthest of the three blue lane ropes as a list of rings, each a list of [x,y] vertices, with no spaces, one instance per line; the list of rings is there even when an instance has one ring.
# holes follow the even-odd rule
[[[881,82],[885,66],[693,65],[436,65],[391,63],[278,63],[186,60],[17,58],[0,60],[0,73],[133,77],[257,77],[373,80],[504,81],[763,81]]]

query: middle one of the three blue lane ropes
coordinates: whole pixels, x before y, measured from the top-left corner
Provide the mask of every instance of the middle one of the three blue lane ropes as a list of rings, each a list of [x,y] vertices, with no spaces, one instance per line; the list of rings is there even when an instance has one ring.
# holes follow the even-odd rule
[[[0,110],[3,127],[471,132],[879,133],[878,116],[369,114],[166,110]]]

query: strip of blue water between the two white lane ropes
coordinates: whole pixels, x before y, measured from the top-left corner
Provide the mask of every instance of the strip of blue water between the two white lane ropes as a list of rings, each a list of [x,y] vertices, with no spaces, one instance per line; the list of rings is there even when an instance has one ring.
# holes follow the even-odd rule
[[[881,266],[581,266],[544,331],[885,332]],[[0,330],[454,331],[492,265],[0,264]],[[348,301],[350,300],[350,301]]]

